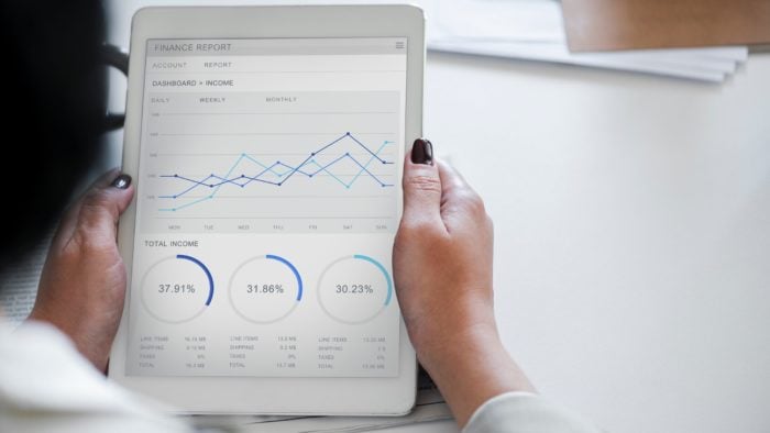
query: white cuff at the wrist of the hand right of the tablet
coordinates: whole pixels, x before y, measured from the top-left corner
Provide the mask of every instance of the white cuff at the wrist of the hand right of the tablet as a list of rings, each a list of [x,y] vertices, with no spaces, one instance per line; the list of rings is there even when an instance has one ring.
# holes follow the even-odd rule
[[[529,392],[506,392],[479,407],[463,433],[598,433],[570,410]]]

